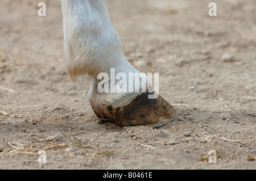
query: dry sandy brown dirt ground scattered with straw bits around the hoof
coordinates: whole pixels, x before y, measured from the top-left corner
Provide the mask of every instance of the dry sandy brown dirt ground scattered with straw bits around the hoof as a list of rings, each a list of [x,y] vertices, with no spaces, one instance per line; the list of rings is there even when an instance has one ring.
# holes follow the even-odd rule
[[[0,169],[255,169],[254,0],[216,0],[214,17],[211,1],[106,1],[125,56],[179,112],[158,129],[95,122],[89,80],[65,69],[60,1],[45,17],[39,2],[0,1]]]

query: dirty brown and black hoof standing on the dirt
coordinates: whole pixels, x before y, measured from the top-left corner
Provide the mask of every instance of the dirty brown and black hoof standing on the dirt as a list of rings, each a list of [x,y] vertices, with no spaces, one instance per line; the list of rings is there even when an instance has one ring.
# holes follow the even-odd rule
[[[150,93],[145,92],[131,100],[128,96],[114,103],[98,105],[90,101],[90,104],[97,116],[123,126],[152,125],[159,128],[177,119],[176,110],[162,96],[148,99],[148,95]]]

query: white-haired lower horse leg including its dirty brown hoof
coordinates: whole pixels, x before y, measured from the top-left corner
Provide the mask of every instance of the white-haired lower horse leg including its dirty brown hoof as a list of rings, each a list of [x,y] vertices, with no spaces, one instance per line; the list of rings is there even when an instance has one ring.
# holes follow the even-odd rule
[[[150,116],[147,116],[144,122],[137,121],[138,112],[135,111],[135,113],[133,110],[134,105],[130,104],[134,103],[135,99],[140,102],[141,99],[145,99],[144,97],[138,98],[139,95],[142,95],[142,92],[111,93],[110,91],[109,93],[100,93],[97,91],[97,85],[101,82],[101,79],[98,79],[98,74],[107,73],[110,77],[111,68],[115,68],[115,74],[127,74],[127,78],[129,73],[141,73],[127,61],[122,52],[121,40],[109,18],[105,1],[61,0],[61,5],[63,11],[64,54],[68,73],[73,81],[76,81],[76,79],[82,77],[82,75],[89,75],[91,85],[86,95],[96,115],[105,119],[114,120],[121,125],[159,123],[160,118],[152,120],[153,117]],[[114,78],[110,77],[108,81],[111,81],[111,79]],[[147,82],[141,79],[135,79],[135,81],[136,80],[139,80],[141,85],[139,89],[147,86]],[[134,82],[134,85],[135,84],[136,82]],[[110,89],[116,88],[110,87]],[[138,89],[138,87],[135,87],[135,89]],[[149,106],[155,104],[155,102],[148,102],[149,100],[145,101]],[[134,115],[130,116],[129,119],[127,115],[126,117],[122,117],[121,115],[121,113],[127,111],[127,106],[130,108],[133,107],[130,111],[134,112]],[[150,113],[146,113],[143,108],[137,106],[135,109],[137,111],[138,109],[141,110],[141,115],[150,115]],[[171,115],[169,113],[169,116],[164,117],[173,119],[176,115],[173,108],[168,108],[163,111],[162,117],[163,115],[168,115],[167,112],[170,112],[170,110],[173,113],[171,113]],[[139,118],[141,119],[141,117]],[[150,120],[147,121],[146,119]]]

